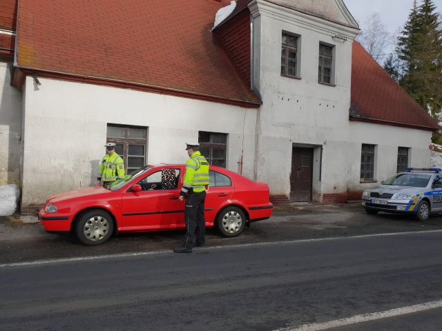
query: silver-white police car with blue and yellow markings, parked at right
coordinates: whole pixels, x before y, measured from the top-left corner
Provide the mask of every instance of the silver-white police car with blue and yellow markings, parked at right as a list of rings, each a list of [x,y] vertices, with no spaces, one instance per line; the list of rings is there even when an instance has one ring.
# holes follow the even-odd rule
[[[369,214],[396,212],[426,221],[430,212],[442,211],[441,168],[407,168],[381,184],[362,194]]]

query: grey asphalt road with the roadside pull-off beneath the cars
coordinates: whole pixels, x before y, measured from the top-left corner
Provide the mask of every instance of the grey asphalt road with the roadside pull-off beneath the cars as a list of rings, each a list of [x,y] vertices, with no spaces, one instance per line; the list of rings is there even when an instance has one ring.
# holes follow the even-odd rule
[[[440,330],[440,215],[292,205],[174,254],[183,233],[88,247],[0,219],[0,330]]]

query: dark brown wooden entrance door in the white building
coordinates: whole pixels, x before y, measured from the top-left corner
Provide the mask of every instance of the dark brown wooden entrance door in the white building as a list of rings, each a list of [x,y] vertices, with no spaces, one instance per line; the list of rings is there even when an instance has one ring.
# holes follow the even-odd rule
[[[290,202],[311,201],[313,148],[294,147],[291,153]]]

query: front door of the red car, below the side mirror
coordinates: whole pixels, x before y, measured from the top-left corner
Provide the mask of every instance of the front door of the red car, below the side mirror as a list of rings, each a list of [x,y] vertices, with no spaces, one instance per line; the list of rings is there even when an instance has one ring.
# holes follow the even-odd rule
[[[164,181],[165,168],[150,172],[140,181],[141,192],[126,190],[122,195],[123,231],[153,230],[184,227],[184,201],[177,188],[180,169],[175,172],[175,185]]]

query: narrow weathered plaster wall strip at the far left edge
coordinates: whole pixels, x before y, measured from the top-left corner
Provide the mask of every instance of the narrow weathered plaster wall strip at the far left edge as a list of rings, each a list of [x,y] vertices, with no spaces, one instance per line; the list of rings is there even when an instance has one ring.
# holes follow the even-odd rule
[[[0,185],[20,186],[22,93],[10,85],[11,68],[0,61]]]

